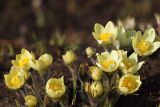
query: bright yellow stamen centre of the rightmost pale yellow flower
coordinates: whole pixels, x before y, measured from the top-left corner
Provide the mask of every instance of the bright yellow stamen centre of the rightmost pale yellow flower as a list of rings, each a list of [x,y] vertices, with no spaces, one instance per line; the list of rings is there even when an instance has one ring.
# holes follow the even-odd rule
[[[151,46],[151,43],[148,41],[144,41],[141,40],[138,44],[137,44],[137,48],[141,53],[146,53],[147,51],[149,51]]]

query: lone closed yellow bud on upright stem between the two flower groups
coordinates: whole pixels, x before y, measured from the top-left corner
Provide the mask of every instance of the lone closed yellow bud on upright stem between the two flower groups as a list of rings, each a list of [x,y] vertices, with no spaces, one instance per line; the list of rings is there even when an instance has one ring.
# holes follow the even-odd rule
[[[67,51],[65,55],[62,56],[62,58],[63,58],[64,63],[67,65],[72,64],[76,59],[75,54],[72,50]]]

